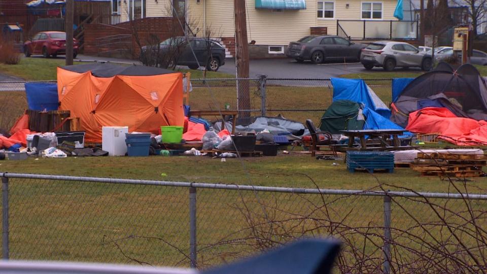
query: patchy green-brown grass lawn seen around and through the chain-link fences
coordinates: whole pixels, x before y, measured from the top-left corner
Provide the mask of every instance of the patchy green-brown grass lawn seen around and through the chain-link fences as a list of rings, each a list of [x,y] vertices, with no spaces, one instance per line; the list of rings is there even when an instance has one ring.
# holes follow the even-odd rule
[[[35,74],[37,59],[28,60],[27,63],[23,63],[23,68],[9,69],[13,73]],[[36,61],[29,63],[30,60]],[[52,77],[52,70],[55,70],[57,65],[59,64],[53,63],[49,69],[51,72],[39,80]],[[2,66],[0,70],[3,70]],[[197,74],[193,74],[192,77],[199,78]],[[214,74],[213,77],[219,75]],[[379,73],[376,79],[389,77],[393,76]],[[375,82],[372,88],[386,104],[390,102],[389,81]],[[259,109],[260,97],[256,87],[251,89],[251,94],[252,108]],[[268,112],[268,115],[283,114],[284,117],[299,122],[311,118],[318,124],[324,110],[331,104],[331,97],[332,89],[328,85],[268,85],[268,109],[320,110]],[[18,117],[23,113],[26,107],[25,95],[23,92],[0,92],[0,102],[1,126],[8,128],[8,123],[4,120],[12,120],[12,117]],[[234,109],[236,90],[231,86],[221,86],[221,83],[215,83],[211,89],[195,87],[190,95],[190,102],[193,110],[222,109],[227,103]],[[338,165],[333,165],[333,161],[316,160],[308,154],[294,153],[276,157],[227,159],[226,162],[209,157],[162,156],[29,158],[25,161],[0,161],[0,172],[299,188],[318,186],[365,190],[376,189],[381,185],[390,190],[402,190],[403,187],[414,191],[455,192],[447,181],[437,177],[421,177],[419,173],[410,169],[396,169],[393,174],[350,174],[343,161],[335,162]],[[472,193],[484,193],[484,184],[483,178],[467,180],[464,185],[458,183],[464,187],[463,191]],[[186,188],[11,179],[9,195],[12,259],[112,263],[136,263],[136,259],[155,265],[189,265],[189,260],[185,257],[189,250],[189,196]],[[329,214],[334,221],[342,221],[346,215],[344,224],[360,227],[357,230],[375,227],[370,228],[369,232],[379,235],[382,233],[379,229],[384,224],[381,197],[342,197],[336,200],[337,198],[338,196],[325,197],[329,202]],[[405,207],[402,209],[393,205],[394,227],[411,227],[411,231],[421,229],[415,226],[414,221],[405,212],[413,214],[421,221],[435,221],[434,215],[429,211],[431,209],[424,203],[410,200],[403,202]],[[276,243],[289,241],[290,234],[302,235],[300,229],[325,222],[320,219],[324,218],[322,208],[317,210],[321,203],[322,199],[318,195],[199,189],[198,260],[201,266],[213,265],[268,248],[271,246],[270,243],[256,239],[265,237],[266,233],[275,233],[271,239]],[[448,205],[455,211],[462,211],[461,204],[462,201],[448,201]],[[477,208],[477,205],[475,207]],[[484,205],[479,204],[478,207],[484,208]],[[311,214],[311,217],[296,220],[307,214]],[[267,218],[264,218],[264,215]],[[265,222],[269,219],[275,221],[274,226]],[[289,219],[292,221],[283,221]],[[260,234],[248,229],[253,221],[264,223],[261,225],[262,231],[257,231]],[[449,235],[441,231],[442,228],[429,229],[434,233],[443,233],[441,235],[444,237]],[[324,228],[313,233],[330,234]],[[424,237],[424,231],[418,231],[418,234]],[[404,235],[398,235],[401,236]],[[366,242],[362,241],[362,236],[352,237],[352,242],[357,243],[357,246]],[[381,243],[381,239],[376,235],[368,239],[372,240]],[[417,247],[418,245],[412,244],[412,248]],[[381,256],[380,249],[377,250],[370,243],[367,243],[364,250],[366,253]]]

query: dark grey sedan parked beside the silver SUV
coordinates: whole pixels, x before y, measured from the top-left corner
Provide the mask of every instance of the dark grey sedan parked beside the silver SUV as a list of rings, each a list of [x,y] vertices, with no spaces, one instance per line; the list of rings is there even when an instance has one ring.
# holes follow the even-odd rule
[[[315,64],[324,60],[359,61],[360,53],[366,45],[353,43],[338,36],[306,36],[289,43],[288,57],[298,62],[311,60]]]

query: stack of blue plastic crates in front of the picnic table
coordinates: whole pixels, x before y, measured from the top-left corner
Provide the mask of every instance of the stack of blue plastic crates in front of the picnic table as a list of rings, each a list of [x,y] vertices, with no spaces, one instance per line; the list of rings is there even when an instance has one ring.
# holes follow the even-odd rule
[[[349,151],[346,154],[346,167],[354,173],[357,168],[374,172],[375,169],[386,169],[394,172],[394,154],[389,151]]]

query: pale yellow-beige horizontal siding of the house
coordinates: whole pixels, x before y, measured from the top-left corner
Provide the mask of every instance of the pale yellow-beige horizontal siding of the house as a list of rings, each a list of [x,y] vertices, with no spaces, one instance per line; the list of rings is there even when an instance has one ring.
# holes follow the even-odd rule
[[[147,0],[147,17],[170,16],[171,0]],[[128,2],[128,1],[127,1]],[[335,0],[335,18],[317,18],[317,0],[306,0],[306,10],[273,11],[256,9],[255,0],[247,0],[247,34],[249,42],[256,41],[256,45],[287,45],[310,33],[310,27],[327,27],[329,35],[336,35],[336,20],[361,20],[363,0]],[[389,30],[389,22],[394,18],[397,0],[371,1],[382,3],[382,20],[367,22],[367,36]],[[349,8],[346,8],[346,5]],[[127,21],[126,3],[122,1],[121,21]],[[218,37],[234,37],[234,9],[233,0],[187,0],[188,21],[197,36],[204,36],[205,27],[211,28]],[[347,29],[352,37],[363,36],[360,23],[341,21],[340,25]]]

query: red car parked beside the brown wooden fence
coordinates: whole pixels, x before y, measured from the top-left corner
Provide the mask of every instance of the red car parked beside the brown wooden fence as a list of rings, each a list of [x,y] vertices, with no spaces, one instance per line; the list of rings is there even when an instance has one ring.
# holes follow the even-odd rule
[[[78,54],[78,40],[73,39],[73,57]],[[30,41],[24,43],[24,54],[42,54],[44,57],[56,57],[58,54],[66,54],[66,32],[43,31],[39,32]]]

